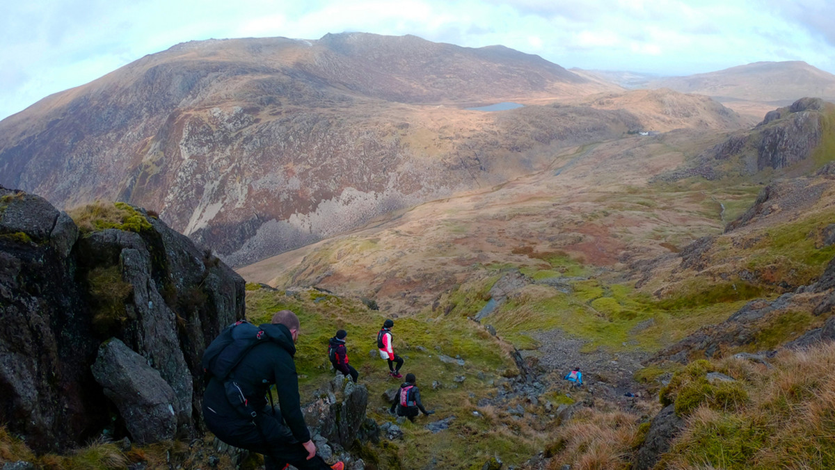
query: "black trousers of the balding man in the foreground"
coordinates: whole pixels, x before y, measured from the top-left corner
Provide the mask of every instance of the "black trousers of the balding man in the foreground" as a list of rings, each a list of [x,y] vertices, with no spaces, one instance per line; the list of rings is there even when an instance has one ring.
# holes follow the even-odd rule
[[[261,413],[254,424],[239,416],[229,416],[222,403],[218,408],[215,410],[212,403],[203,402],[203,417],[209,430],[230,446],[263,454],[266,470],[281,470],[287,463],[299,470],[330,470],[331,466],[318,455],[307,460],[305,447],[293,437],[281,414]]]

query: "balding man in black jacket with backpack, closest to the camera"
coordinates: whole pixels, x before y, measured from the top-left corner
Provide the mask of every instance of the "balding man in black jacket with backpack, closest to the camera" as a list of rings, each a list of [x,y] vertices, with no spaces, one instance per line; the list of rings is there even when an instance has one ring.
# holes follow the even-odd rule
[[[203,396],[203,417],[215,436],[230,446],[264,454],[266,470],[280,470],[289,463],[300,470],[342,470],[344,464],[332,467],[316,455],[304,415],[301,413],[299,382],[296,376],[296,339],[300,325],[295,313],[283,310],[272,317],[272,322],[259,326],[270,341],[261,341],[240,359],[230,377],[221,382],[212,377]],[[266,394],[271,385],[281,412],[267,404]],[[245,397],[248,413],[240,410]]]

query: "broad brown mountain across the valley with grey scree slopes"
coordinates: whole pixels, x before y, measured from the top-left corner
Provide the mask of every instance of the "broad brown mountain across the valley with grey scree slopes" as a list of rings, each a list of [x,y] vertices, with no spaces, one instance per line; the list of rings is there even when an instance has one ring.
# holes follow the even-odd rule
[[[666,124],[581,103],[616,89],[509,48],[413,36],[184,43],[0,122],[0,183],[63,209],[146,207],[245,265],[542,169],[554,149],[741,126],[702,103],[687,118],[686,99]],[[501,102],[528,106],[467,109]]]

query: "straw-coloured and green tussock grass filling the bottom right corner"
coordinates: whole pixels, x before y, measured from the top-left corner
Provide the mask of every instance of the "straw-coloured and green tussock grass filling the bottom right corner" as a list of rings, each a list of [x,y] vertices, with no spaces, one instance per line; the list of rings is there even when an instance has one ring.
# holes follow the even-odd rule
[[[739,376],[749,400],[736,408],[696,407],[663,465],[835,467],[835,344],[784,351],[772,369],[735,359],[711,366]]]

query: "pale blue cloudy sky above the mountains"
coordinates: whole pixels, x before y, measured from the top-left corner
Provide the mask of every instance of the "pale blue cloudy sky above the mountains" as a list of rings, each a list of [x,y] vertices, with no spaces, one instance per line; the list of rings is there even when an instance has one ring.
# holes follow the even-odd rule
[[[832,0],[0,0],[0,119],[208,38],[414,34],[565,68],[664,75],[803,60],[835,73]]]

